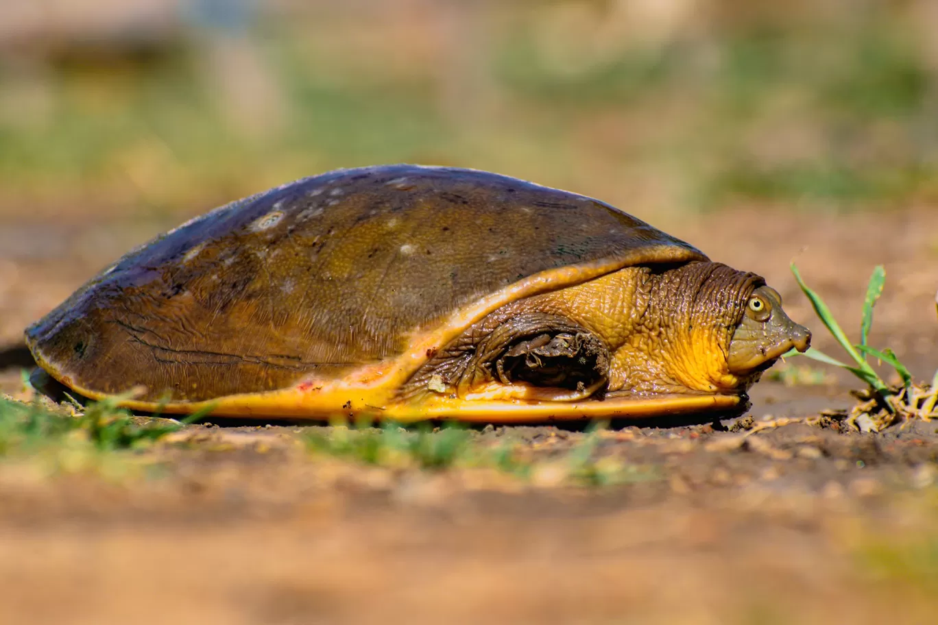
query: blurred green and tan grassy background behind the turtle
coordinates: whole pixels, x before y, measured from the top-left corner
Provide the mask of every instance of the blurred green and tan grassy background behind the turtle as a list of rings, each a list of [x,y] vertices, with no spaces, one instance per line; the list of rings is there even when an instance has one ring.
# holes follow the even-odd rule
[[[191,215],[336,167],[649,218],[938,196],[933,0],[3,0],[0,215]]]

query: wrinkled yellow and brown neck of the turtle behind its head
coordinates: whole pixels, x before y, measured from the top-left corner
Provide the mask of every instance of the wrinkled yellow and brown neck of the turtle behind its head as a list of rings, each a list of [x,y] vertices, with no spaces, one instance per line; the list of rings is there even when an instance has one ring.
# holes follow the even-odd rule
[[[564,312],[609,345],[608,395],[743,393],[755,379],[731,374],[727,354],[763,283],[716,262],[629,267],[568,290]]]

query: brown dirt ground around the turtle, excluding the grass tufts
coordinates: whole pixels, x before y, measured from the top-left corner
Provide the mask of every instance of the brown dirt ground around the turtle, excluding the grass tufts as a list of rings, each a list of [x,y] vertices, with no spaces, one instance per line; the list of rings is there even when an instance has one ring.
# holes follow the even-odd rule
[[[832,354],[789,262],[851,335],[885,264],[871,344],[916,379],[938,367],[938,212],[643,217],[762,273]],[[177,220],[0,224],[0,391],[29,365],[27,323]],[[767,379],[749,417],[847,407],[855,386]],[[938,422],[699,421],[605,432],[600,450],[635,468],[605,487],[311,458],[295,425],[189,426],[117,474],[2,463],[0,622],[935,622]],[[584,435],[476,436],[550,456]]]

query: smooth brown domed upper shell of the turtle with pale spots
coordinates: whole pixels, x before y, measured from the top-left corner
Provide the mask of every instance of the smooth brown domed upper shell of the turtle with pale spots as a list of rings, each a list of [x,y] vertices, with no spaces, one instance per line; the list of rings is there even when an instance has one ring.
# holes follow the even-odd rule
[[[507,176],[332,171],[129,252],[26,340],[84,394],[143,387],[138,405],[185,405],[343,379],[407,354],[416,369],[427,333],[629,264],[688,260],[706,257],[602,201]]]

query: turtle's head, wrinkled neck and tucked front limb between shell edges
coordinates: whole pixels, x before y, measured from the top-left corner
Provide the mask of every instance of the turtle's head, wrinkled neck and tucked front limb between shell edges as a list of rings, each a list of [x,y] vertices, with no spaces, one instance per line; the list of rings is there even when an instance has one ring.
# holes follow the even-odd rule
[[[716,262],[635,266],[506,305],[424,365],[402,394],[581,400],[743,394],[808,328],[758,275]]]

